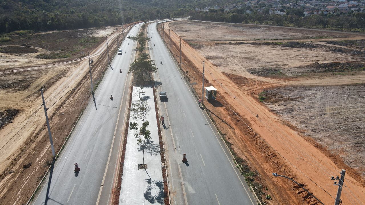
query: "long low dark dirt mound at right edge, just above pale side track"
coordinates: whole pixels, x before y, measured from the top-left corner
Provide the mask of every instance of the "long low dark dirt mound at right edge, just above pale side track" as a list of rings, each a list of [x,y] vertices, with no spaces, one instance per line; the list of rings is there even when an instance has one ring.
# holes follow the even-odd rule
[[[312,63],[307,67],[312,67],[316,69],[325,69],[326,71],[356,71],[356,70],[364,70],[364,63]]]

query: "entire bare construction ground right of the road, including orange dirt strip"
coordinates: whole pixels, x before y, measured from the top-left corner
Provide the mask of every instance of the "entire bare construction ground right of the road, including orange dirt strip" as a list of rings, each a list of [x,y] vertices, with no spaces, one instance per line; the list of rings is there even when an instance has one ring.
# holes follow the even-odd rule
[[[169,29],[177,62],[181,38],[182,70],[197,96],[205,61],[204,86],[218,96],[204,104],[258,171],[272,197],[265,203],[318,204],[278,173],[333,204],[330,178],[341,169],[342,204],[364,203],[365,34],[181,20],[164,24],[167,46]]]

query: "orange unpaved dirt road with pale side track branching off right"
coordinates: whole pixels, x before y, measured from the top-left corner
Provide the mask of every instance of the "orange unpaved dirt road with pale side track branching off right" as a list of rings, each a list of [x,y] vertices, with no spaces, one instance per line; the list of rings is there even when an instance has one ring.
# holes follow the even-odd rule
[[[174,23],[165,24],[167,33],[170,28],[169,24]],[[191,28],[189,28],[189,30],[190,29]],[[200,29],[204,30],[205,28]],[[194,30],[194,28],[192,30]],[[216,32],[213,30],[211,32],[207,32],[206,30],[204,33],[201,32],[200,35],[205,35],[205,38],[203,36],[200,40],[203,41],[203,39],[208,39],[208,36],[220,36],[220,38],[217,39],[223,38],[222,31],[219,31],[216,28],[215,30]],[[280,28],[276,28],[276,30],[280,30]],[[173,27],[172,31],[172,40],[174,43],[178,44],[180,36],[178,36],[175,31],[181,32],[181,30]],[[262,35],[261,30],[257,30],[257,32],[260,32],[260,35]],[[316,35],[315,30],[311,32],[312,36]],[[268,34],[270,34],[270,32]],[[194,36],[193,38],[199,37],[194,33],[191,35]],[[244,34],[241,32],[240,35]],[[347,37],[346,35],[343,37]],[[185,36],[184,38],[189,37]],[[262,38],[262,36],[260,38]],[[226,129],[224,131],[226,131],[226,133],[231,133],[230,138],[236,149],[241,151],[241,153],[246,154],[246,158],[252,163],[251,165],[259,170],[277,204],[292,204],[285,200],[288,198],[297,198],[298,195],[294,192],[297,189],[295,186],[288,187],[285,180],[273,178],[271,173],[278,172],[279,174],[283,173],[284,175],[295,177],[296,181],[306,185],[306,187],[324,204],[332,204],[334,201],[333,197],[337,192],[337,186],[332,185],[333,181],[330,180],[330,177],[337,176],[339,171],[344,167],[347,169],[347,172],[345,181],[346,187],[343,188],[341,197],[342,203],[362,204],[365,201],[364,179],[357,170],[346,167],[341,158],[336,155],[331,155],[325,148],[323,149],[323,147],[314,146],[315,142],[304,138],[300,134],[300,129],[297,129],[265,108],[262,103],[257,100],[256,95],[258,92],[261,92],[262,89],[273,86],[291,84],[341,85],[364,83],[364,71],[359,71],[354,75],[341,77],[329,75],[324,77],[303,77],[295,80],[277,80],[254,76],[245,69],[245,64],[233,61],[234,67],[241,69],[242,71],[239,74],[242,76],[242,81],[244,81],[244,83],[238,85],[236,81],[232,81],[226,74],[223,74],[221,68],[204,58],[204,53],[202,53],[201,50],[198,51],[193,49],[191,45],[184,40],[181,42],[184,61],[190,61],[190,67],[194,66],[195,70],[201,72],[201,62],[205,60],[205,78],[207,79],[208,84],[211,84],[218,89],[218,101],[223,104],[223,107],[214,107],[209,104],[208,107],[214,112],[220,113],[221,119],[226,119],[226,123],[236,128],[235,130]],[[227,53],[226,55],[230,54]],[[229,58],[228,60],[231,59],[235,58]],[[187,69],[187,67],[189,66],[184,66],[184,69]],[[194,69],[192,70],[194,71]],[[228,73],[229,71],[230,70],[228,70]],[[191,73],[191,76],[194,79],[192,81],[197,82],[199,87],[200,81],[198,80],[198,77],[196,77],[197,75]],[[199,93],[199,91],[197,92]],[[256,117],[256,115],[258,115],[258,117]],[[253,131],[248,129],[248,127]],[[237,132],[239,132],[238,130],[241,130],[239,133],[240,135],[237,135]],[[252,157],[252,155],[255,157]],[[284,189],[284,191],[283,189],[280,191],[276,190],[277,183],[281,184],[283,187],[287,187],[287,189]],[[290,191],[290,188],[294,191]],[[285,195],[285,197],[282,197],[283,195]],[[306,199],[304,203],[316,203],[313,199],[307,199],[308,196],[305,195],[306,194],[304,193],[299,194],[300,197]],[[298,200],[297,203],[303,203],[300,201],[301,200]]]

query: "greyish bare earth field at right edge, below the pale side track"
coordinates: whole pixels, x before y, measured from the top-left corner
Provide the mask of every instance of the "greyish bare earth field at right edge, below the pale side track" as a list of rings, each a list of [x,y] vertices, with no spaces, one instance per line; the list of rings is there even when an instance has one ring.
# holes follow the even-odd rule
[[[365,86],[288,86],[262,93],[265,105],[365,176]]]

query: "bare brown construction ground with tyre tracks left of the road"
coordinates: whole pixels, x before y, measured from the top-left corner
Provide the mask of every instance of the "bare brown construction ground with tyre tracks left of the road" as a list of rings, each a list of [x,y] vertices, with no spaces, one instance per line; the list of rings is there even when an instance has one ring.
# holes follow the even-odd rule
[[[87,53],[96,89],[108,65],[105,36],[112,57],[117,28],[120,43],[122,27],[103,27],[12,36],[0,44],[1,205],[26,204],[52,162],[39,89],[57,154],[89,101]]]

